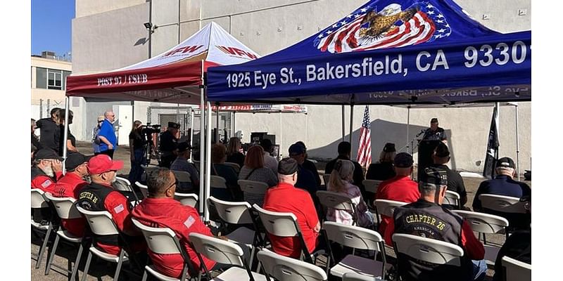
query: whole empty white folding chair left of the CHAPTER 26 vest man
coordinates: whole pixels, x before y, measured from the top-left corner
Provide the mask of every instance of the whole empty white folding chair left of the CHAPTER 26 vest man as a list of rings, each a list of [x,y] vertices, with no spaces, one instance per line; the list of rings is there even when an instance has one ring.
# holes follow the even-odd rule
[[[381,277],[385,279],[385,271],[387,266],[387,260],[385,256],[385,246],[384,240],[381,235],[374,230],[369,230],[367,228],[360,228],[358,226],[347,226],[342,223],[335,223],[333,221],[325,221],[322,225],[322,229],[327,235],[329,241],[339,243],[343,246],[355,249],[363,249],[369,251],[376,251],[375,257],[377,257],[377,252],[381,253],[381,259],[383,262],[377,261],[375,258],[366,259],[361,256],[355,256],[354,254],[349,254],[342,261],[337,263],[335,266],[330,268],[330,274],[336,277],[342,277],[344,273],[360,273],[361,275],[367,275],[369,277]],[[330,243],[328,245],[331,249]],[[331,259],[334,260],[334,256],[331,254],[327,258],[327,273],[329,272],[329,266]]]

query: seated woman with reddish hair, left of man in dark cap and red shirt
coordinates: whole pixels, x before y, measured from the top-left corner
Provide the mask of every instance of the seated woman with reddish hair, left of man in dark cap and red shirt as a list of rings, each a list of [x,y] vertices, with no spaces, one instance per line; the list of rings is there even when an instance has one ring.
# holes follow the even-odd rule
[[[277,176],[272,170],[264,166],[264,150],[260,145],[254,145],[246,152],[244,166],[239,173],[239,180],[260,181],[266,183],[270,188],[277,185]],[[264,202],[264,195],[244,192],[244,200],[251,205],[258,204],[261,207]]]

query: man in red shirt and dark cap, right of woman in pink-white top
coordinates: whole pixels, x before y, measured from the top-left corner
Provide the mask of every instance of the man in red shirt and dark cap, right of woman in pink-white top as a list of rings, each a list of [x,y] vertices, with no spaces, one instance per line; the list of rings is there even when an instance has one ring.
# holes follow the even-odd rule
[[[412,173],[412,156],[405,152],[400,152],[393,159],[393,169],[396,176],[383,181],[377,188],[375,199],[393,200],[400,202],[416,202],[420,197],[418,183],[410,179]],[[385,228],[391,218],[381,216],[379,233],[385,233]]]

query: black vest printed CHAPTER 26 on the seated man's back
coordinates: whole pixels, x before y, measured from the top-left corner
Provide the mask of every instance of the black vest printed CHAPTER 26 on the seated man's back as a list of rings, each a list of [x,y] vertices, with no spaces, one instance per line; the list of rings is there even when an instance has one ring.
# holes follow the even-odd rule
[[[463,218],[438,204],[418,200],[394,212],[395,232],[418,235],[456,244],[463,248],[461,230]],[[473,233],[470,233],[473,235]],[[426,263],[398,254],[399,272],[403,280],[472,280],[473,264],[464,254],[461,268]]]

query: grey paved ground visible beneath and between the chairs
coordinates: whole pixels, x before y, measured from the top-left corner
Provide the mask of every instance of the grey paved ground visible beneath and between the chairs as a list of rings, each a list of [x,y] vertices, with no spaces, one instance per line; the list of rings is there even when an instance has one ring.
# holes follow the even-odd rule
[[[84,153],[85,155],[93,154],[91,150],[91,145],[89,143],[79,142],[77,148],[79,149],[80,152]],[[129,169],[130,169],[129,149],[127,147],[119,148],[115,152],[114,157],[115,159],[123,160],[125,166],[122,171],[118,172],[118,174],[120,174],[120,176],[125,176],[125,178],[127,178],[127,174],[129,173]],[[317,168],[320,170],[321,173],[324,172],[324,163],[318,163]],[[475,196],[476,189],[479,187],[479,183],[481,183],[483,179],[464,177],[463,180],[465,187],[467,189],[467,197],[468,197],[467,205],[470,206],[471,203],[473,202],[473,197]],[[526,181],[526,183],[528,183],[528,185],[531,186],[531,181]],[[32,280],[49,280],[49,281],[68,280],[69,277],[67,277],[67,274],[64,272],[64,270],[60,270],[56,268],[53,268],[49,273],[49,275],[44,275],[46,260],[48,258],[47,254],[44,255],[42,264],[39,267],[39,269],[37,270],[35,269],[35,263],[37,261],[37,258],[35,256],[39,251],[39,246],[41,244],[41,241],[33,233],[31,235],[31,238],[32,238],[32,248],[31,248],[32,249],[32,254],[31,254]],[[505,242],[505,236],[488,235],[487,242],[491,244],[502,245]],[[392,252],[391,249],[386,249],[386,254],[388,254],[389,256],[394,256],[391,252]],[[87,253],[87,251],[85,250],[84,253]],[[53,259],[53,264],[66,267],[68,259],[74,260],[76,254],[77,254],[77,249],[65,245],[63,243],[59,243],[57,253]],[[86,261],[86,257],[87,257],[86,254],[82,256],[82,261],[79,265],[79,275],[81,278],[82,278],[82,270],[84,270],[84,263]],[[320,259],[318,264],[322,265],[323,262],[324,259]],[[115,271],[115,264],[106,263],[100,260],[93,259],[89,269],[89,275],[87,277],[87,280],[113,280],[114,271]],[[486,280],[491,280],[492,275],[493,275],[493,270],[488,270]],[[140,278],[134,277],[133,275],[127,275],[127,273],[123,273],[120,276],[120,280],[140,280]]]

